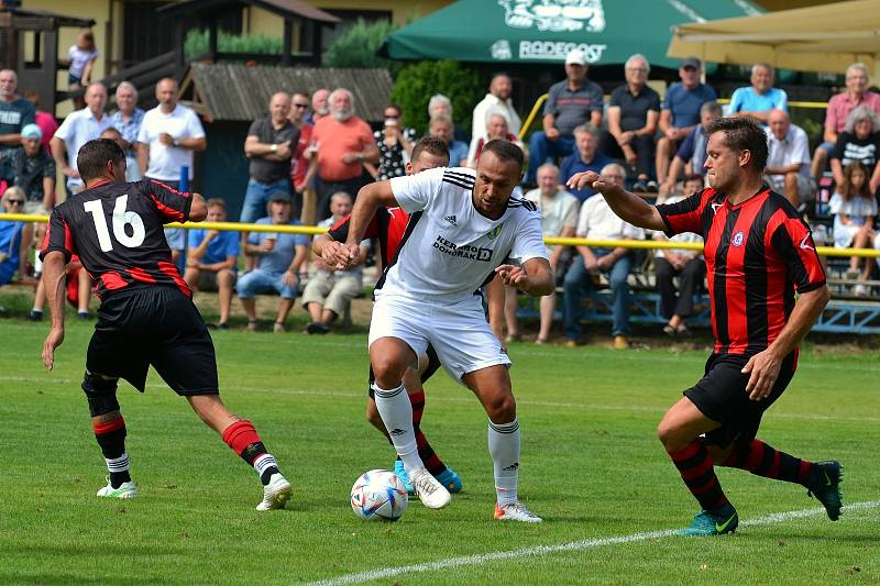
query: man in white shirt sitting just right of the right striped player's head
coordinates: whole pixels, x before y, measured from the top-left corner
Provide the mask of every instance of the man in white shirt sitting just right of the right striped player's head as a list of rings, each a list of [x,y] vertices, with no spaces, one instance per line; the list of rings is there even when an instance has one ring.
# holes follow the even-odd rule
[[[813,195],[810,177],[810,141],[801,126],[792,124],[784,110],[767,113],[769,154],[763,173],[770,187],[783,194],[795,208]]]

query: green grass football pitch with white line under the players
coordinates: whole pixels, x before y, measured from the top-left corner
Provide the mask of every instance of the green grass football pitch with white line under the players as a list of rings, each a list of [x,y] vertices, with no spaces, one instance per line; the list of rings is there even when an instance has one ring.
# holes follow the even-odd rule
[[[0,584],[880,583],[875,350],[807,344],[759,434],[843,462],[840,520],[806,489],[724,468],[740,527],[694,539],[671,534],[697,508],[656,427],[705,350],[512,346],[520,493],[538,526],[492,520],[485,414],[438,373],[422,425],[464,490],[447,509],[413,499],[400,521],[373,523],[352,515],[349,490],[393,452],[364,419],[363,333],[213,334],[222,397],[294,485],[288,510],[260,513],[255,473],[154,373],[144,396],[119,391],[140,496],[95,496],[106,468],[79,389],[92,327],[68,322],[46,373],[48,325],[0,319]]]

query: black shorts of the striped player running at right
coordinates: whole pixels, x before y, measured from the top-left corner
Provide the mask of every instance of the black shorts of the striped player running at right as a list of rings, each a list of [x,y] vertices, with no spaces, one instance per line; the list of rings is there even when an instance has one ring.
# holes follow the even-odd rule
[[[773,389],[760,401],[749,399],[746,385],[748,374],[743,367],[750,356],[737,354],[713,354],[706,361],[703,378],[684,391],[700,411],[722,425],[706,433],[706,439],[721,447],[732,442],[750,442],[758,433],[761,416],[773,405],[791,383],[798,366],[798,353],[792,352],[782,361]]]

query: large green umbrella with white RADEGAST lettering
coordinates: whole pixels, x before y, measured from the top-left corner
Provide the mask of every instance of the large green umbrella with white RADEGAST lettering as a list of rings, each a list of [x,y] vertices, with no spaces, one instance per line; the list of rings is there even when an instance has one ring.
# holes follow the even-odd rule
[[[641,53],[666,56],[672,26],[755,15],[748,0],[460,0],[393,33],[380,54],[393,59],[498,64],[562,63],[580,48],[593,64],[624,63]]]

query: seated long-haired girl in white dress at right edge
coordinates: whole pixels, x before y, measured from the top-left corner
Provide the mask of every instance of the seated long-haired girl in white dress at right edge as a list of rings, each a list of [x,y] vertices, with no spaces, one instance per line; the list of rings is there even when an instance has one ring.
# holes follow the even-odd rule
[[[868,169],[858,161],[844,168],[844,180],[837,184],[837,190],[828,202],[834,214],[835,248],[870,248],[877,247],[877,199],[868,189]],[[864,268],[859,269],[862,264]],[[871,276],[870,258],[853,256],[849,259],[847,278],[868,280]],[[868,287],[857,284],[853,292],[859,297],[868,295]]]

